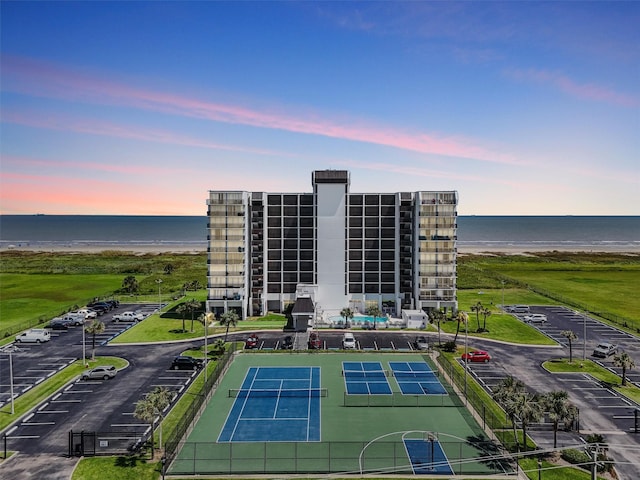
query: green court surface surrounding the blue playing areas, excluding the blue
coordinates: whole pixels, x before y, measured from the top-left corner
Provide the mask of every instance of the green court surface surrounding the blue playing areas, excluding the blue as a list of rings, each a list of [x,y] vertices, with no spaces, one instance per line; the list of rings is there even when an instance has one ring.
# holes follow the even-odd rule
[[[445,395],[403,395],[392,375],[388,377],[392,395],[346,395],[343,362],[380,362],[385,370],[390,370],[389,362],[425,362],[437,371],[433,361],[421,354],[240,353],[229,365],[168,473],[414,474],[420,465],[407,453],[408,440],[424,441],[426,445],[438,442],[457,475],[511,472],[508,464],[493,457],[499,454],[496,445],[444,378],[438,377]],[[217,443],[237,400],[229,392],[241,388],[251,367],[274,366],[319,367],[320,387],[326,389],[320,402],[320,441]],[[260,423],[256,425],[260,428]],[[428,472],[429,466],[424,470]]]

